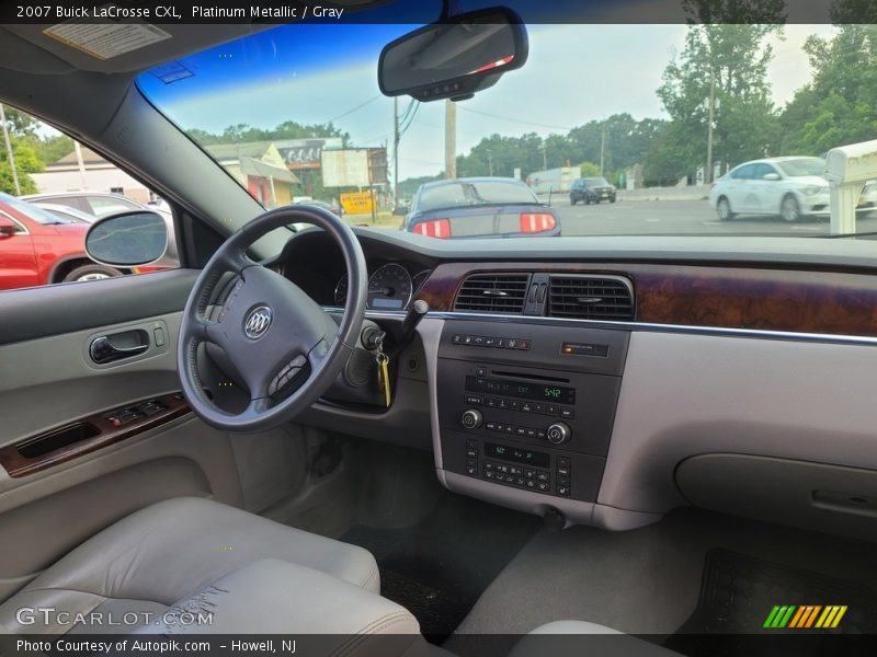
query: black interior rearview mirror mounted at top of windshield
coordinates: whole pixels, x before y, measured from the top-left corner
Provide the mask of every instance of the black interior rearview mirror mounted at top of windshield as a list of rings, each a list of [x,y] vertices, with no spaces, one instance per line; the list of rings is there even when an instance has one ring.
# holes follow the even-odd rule
[[[527,33],[513,11],[496,7],[445,19],[385,46],[378,84],[387,96],[462,101],[527,60]]]

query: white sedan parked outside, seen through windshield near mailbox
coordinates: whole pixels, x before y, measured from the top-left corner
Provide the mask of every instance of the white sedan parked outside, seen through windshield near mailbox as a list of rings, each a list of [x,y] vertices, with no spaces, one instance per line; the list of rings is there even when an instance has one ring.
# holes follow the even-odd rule
[[[721,221],[736,215],[778,215],[785,221],[828,216],[822,158],[766,158],[734,166],[715,182],[709,205]]]

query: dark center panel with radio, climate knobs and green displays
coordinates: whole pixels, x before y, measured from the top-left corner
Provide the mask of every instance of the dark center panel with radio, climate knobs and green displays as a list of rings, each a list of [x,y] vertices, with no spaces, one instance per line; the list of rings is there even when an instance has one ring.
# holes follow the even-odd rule
[[[478,480],[485,491],[595,502],[628,337],[446,321],[436,368],[443,470]],[[557,506],[569,508],[560,499]]]

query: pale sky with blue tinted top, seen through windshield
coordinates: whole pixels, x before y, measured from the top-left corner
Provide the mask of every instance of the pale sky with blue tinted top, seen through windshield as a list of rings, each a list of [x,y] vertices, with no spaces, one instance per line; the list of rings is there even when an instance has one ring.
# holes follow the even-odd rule
[[[334,125],[354,146],[390,145],[392,100],[377,87],[384,44],[406,25],[287,25],[181,60],[192,77],[166,84],[145,73],[147,96],[181,127],[221,132],[232,124],[271,128],[284,120]],[[496,87],[458,104],[457,152],[492,134],[543,137],[619,112],[665,117],[656,90],[687,27],[671,25],[532,25],[529,59]],[[772,37],[768,70],[777,106],[807,83],[801,45],[830,25],[787,25]],[[409,99],[400,97],[400,112]],[[391,153],[390,153],[391,154]],[[400,180],[444,168],[444,103],[418,108],[400,147]],[[550,153],[549,153],[550,160]],[[549,166],[560,165],[560,162]]]

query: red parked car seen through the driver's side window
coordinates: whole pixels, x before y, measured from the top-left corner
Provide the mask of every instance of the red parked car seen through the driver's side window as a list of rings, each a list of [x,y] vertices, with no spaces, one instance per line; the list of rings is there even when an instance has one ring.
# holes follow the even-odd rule
[[[123,274],[86,255],[88,230],[0,193],[0,290]]]

